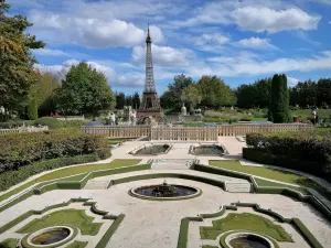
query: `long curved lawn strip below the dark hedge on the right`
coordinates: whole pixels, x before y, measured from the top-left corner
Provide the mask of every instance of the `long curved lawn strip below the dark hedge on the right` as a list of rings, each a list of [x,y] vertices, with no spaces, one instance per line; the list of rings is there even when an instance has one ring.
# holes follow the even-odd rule
[[[331,192],[322,187],[320,184],[316,183],[312,180],[309,180],[305,176],[297,175],[290,172],[279,171],[276,169],[260,168],[260,166],[245,166],[242,165],[238,161],[234,160],[210,160],[210,165],[217,168],[224,168],[232,171],[238,171],[248,173],[252,175],[263,176],[265,179],[276,180],[285,183],[292,183],[305,187],[311,187],[318,191],[320,194],[331,200]]]

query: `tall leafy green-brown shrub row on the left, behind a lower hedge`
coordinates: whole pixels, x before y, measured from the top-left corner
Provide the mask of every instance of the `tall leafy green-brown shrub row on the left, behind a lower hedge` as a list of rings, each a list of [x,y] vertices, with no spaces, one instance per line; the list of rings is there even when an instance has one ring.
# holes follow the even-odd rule
[[[0,136],[0,172],[17,170],[40,160],[82,154],[108,158],[110,150],[107,140],[71,130]]]

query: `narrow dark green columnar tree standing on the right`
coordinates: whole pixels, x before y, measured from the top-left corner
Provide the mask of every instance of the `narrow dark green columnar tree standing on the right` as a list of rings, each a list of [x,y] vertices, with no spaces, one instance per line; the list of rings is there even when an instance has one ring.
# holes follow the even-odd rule
[[[290,121],[289,116],[289,90],[287,88],[287,76],[275,74],[271,82],[271,101],[268,119],[275,123]]]

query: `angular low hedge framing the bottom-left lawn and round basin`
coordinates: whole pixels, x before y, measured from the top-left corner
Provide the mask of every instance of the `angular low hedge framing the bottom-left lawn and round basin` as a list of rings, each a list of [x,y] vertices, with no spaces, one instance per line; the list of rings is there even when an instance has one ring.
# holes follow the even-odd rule
[[[25,214],[17,217],[15,219],[13,219],[10,223],[0,227],[0,234],[3,234],[4,231],[9,230],[10,228],[18,225],[25,218],[31,217],[32,215],[42,215],[42,214],[46,213],[47,211],[68,206],[70,204],[76,203],[76,202],[83,203],[84,206],[90,206],[90,212],[94,214],[97,214],[97,215],[102,215],[103,219],[114,219],[114,223],[111,224],[111,226],[108,228],[108,230],[105,233],[105,235],[102,237],[98,245],[96,246],[98,248],[105,248],[108,240],[111,238],[111,236],[115,234],[118,226],[122,222],[125,215],[121,214],[121,215],[116,216],[116,215],[110,214],[109,212],[100,211],[96,207],[97,202],[90,201],[89,198],[71,198],[67,202],[47,206],[47,207],[43,208],[42,211],[28,211]]]

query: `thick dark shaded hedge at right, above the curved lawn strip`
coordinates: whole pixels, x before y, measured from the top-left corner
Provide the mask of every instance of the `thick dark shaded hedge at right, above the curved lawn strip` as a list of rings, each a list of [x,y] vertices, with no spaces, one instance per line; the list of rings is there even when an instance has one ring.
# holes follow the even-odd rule
[[[244,159],[293,169],[331,182],[331,131],[248,133]]]

